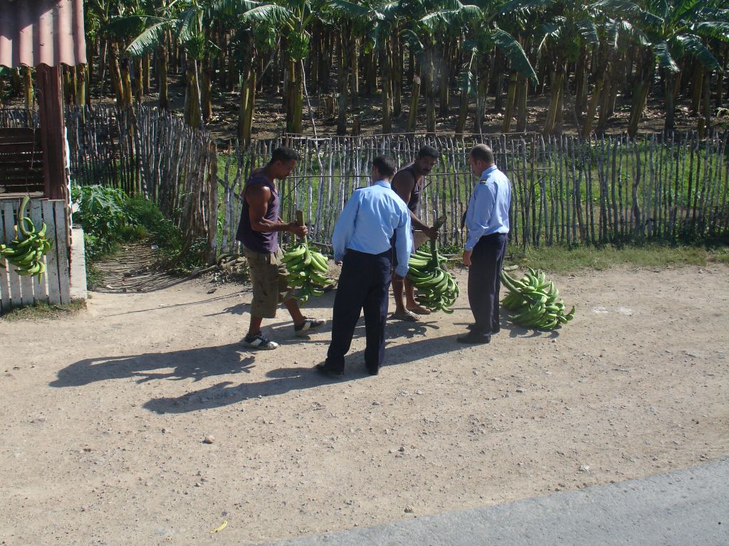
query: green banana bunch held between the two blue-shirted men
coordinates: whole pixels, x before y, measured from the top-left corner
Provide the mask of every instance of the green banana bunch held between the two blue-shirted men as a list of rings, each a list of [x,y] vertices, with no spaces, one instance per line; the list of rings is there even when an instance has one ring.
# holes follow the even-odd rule
[[[447,261],[448,258],[438,253],[435,241],[431,241],[430,250],[421,247],[410,256],[408,279],[418,289],[418,305],[431,311],[451,314],[451,306],[456,302],[460,290],[453,275],[445,269]]]

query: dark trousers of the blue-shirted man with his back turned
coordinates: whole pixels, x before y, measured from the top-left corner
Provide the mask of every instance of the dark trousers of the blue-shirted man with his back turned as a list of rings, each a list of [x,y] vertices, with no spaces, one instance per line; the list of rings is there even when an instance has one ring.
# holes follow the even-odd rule
[[[344,370],[344,355],[349,351],[359,313],[364,309],[367,347],[364,363],[378,371],[385,357],[385,322],[391,280],[391,250],[366,254],[347,250],[342,261],[332,317],[332,343],[327,352],[327,368]]]

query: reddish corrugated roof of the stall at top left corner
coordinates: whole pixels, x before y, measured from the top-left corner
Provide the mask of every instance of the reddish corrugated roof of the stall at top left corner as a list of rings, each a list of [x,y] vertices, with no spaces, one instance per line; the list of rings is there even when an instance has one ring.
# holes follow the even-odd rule
[[[0,65],[86,63],[83,0],[0,0]]]

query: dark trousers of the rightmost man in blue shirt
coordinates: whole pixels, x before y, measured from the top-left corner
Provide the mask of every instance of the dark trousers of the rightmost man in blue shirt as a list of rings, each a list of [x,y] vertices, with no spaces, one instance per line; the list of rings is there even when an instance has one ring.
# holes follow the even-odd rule
[[[501,269],[506,254],[507,234],[481,237],[473,248],[468,269],[468,303],[476,325],[473,331],[484,336],[497,333],[499,323],[499,289]]]

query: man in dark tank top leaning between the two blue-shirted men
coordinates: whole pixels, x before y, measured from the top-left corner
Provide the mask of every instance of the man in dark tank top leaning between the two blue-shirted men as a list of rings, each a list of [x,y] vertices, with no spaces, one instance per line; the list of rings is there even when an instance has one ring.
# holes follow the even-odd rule
[[[433,170],[439,156],[438,151],[432,146],[423,146],[418,151],[416,160],[402,167],[392,178],[392,189],[408,205],[413,230],[423,232],[430,239],[435,239],[438,236],[438,231],[423,223],[418,218],[417,213],[424,188],[424,177]],[[397,266],[397,263],[393,266]],[[405,292],[405,301],[402,298],[403,291]],[[392,280],[392,293],[395,298],[395,312],[392,314],[392,318],[415,322],[418,317],[413,313],[429,314],[429,309],[419,306],[418,302],[415,301],[415,289],[407,277],[404,280]]]

